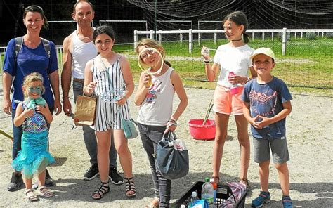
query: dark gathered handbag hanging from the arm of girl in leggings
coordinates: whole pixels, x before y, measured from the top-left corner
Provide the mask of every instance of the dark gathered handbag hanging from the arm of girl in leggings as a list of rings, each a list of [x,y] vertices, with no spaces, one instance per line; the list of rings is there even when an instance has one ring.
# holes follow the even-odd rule
[[[185,143],[178,141],[174,131],[165,134],[157,144],[157,168],[166,179],[177,179],[188,174],[189,160]]]

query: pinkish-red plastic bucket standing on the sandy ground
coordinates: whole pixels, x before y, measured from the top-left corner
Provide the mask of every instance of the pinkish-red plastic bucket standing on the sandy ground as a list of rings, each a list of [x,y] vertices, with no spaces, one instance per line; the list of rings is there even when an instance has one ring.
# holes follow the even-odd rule
[[[213,140],[216,133],[215,121],[207,119],[202,125],[204,119],[190,119],[188,126],[190,127],[190,135],[195,139]]]

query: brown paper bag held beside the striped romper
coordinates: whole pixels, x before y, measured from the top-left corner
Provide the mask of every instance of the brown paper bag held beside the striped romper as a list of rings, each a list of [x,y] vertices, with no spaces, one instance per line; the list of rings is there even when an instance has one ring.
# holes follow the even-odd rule
[[[77,96],[74,114],[74,124],[77,126],[92,126],[95,122],[96,98]]]

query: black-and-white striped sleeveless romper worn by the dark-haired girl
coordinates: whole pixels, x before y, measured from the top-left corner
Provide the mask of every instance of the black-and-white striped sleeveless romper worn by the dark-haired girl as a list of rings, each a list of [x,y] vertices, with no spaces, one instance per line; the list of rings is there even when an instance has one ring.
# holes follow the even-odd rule
[[[106,69],[98,69],[97,65],[100,65],[100,56],[93,58],[93,67],[91,72],[93,73],[93,82],[97,82],[94,94],[97,97],[96,105],[96,119],[95,130],[107,131],[109,129],[122,129],[122,118],[129,119],[129,103],[126,100],[124,105],[118,105],[110,101],[105,101],[100,98],[101,93],[107,93],[112,89],[125,89],[126,84],[122,75],[122,67],[119,60],[122,56],[107,67]],[[107,76],[107,73],[109,76]],[[118,113],[119,111],[119,113]]]

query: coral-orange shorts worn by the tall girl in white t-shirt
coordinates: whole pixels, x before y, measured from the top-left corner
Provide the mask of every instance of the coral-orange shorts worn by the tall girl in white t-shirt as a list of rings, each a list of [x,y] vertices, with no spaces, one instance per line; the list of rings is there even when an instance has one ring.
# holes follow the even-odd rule
[[[230,94],[230,90],[226,86],[217,85],[214,92],[214,112],[230,115],[243,114],[243,101],[241,99],[244,86],[238,86],[238,93]]]

